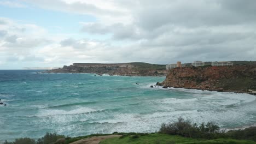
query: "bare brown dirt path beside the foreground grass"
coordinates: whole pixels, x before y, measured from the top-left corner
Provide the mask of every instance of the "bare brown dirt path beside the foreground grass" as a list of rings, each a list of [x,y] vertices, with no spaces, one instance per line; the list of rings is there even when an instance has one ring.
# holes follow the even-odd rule
[[[70,144],[98,144],[102,140],[113,138],[113,137],[120,137],[121,135],[104,135],[104,136],[93,136],[88,137],[86,139],[82,139],[79,141],[72,142]]]

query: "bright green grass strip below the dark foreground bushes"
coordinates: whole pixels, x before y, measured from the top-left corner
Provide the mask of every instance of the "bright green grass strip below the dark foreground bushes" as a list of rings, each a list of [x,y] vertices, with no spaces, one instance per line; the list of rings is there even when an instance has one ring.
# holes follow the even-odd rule
[[[107,139],[103,140],[100,142],[100,144],[125,144],[125,143],[145,143],[145,144],[177,144],[177,143],[186,143],[186,144],[232,144],[232,143],[238,143],[238,144],[256,144],[256,142],[253,141],[247,141],[247,140],[232,140],[232,139],[216,139],[216,140],[202,140],[202,139],[191,139],[191,138],[186,138],[182,136],[173,136],[173,135],[167,135],[167,134],[148,134],[148,135],[143,135],[143,136],[132,136],[132,135],[127,135],[124,136],[123,138],[112,138],[112,139]]]

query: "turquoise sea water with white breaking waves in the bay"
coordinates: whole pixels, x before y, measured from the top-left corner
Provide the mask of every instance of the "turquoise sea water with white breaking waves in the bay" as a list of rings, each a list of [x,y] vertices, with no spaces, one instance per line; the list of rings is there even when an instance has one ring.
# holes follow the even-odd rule
[[[178,117],[226,129],[256,124],[254,95],[150,88],[165,77],[35,72],[0,70],[0,99],[7,104],[0,105],[0,142],[46,132],[154,132]]]

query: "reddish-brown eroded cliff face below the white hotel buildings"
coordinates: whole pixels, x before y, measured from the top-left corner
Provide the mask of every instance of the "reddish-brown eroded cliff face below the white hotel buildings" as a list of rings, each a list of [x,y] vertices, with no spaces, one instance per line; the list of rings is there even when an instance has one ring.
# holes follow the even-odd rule
[[[247,92],[256,89],[256,66],[175,68],[161,84],[175,88]]]

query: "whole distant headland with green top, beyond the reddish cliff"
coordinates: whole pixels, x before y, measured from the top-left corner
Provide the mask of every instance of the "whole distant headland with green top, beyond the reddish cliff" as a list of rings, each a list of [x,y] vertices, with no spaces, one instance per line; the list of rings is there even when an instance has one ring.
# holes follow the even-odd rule
[[[123,76],[166,76],[166,65],[149,63],[73,63],[61,69],[47,70],[45,73],[91,73]]]

